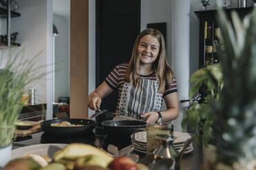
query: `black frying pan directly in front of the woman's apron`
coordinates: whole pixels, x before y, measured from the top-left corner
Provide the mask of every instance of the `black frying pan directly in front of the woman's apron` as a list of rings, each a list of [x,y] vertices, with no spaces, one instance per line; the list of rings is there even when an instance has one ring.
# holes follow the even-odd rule
[[[131,136],[134,130],[147,126],[145,121],[111,120],[101,123],[107,134],[111,136]]]

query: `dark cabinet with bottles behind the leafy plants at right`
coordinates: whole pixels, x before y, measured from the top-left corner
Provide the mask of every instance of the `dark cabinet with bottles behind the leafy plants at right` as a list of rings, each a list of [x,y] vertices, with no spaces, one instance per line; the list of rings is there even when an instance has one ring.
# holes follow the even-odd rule
[[[231,18],[231,11],[233,10],[237,12],[242,20],[246,14],[253,10],[253,7],[226,9],[228,19]],[[209,64],[220,62],[217,46],[220,47],[220,50],[224,50],[224,48],[220,44],[221,30],[216,21],[217,10],[195,11],[195,14],[200,20],[199,66],[201,69]]]

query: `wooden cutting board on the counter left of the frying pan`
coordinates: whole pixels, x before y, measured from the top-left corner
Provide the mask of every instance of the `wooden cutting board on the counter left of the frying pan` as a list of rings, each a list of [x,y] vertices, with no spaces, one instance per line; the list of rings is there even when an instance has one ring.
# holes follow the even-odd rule
[[[34,134],[36,132],[41,132],[41,121],[25,121],[28,123],[32,123],[32,127],[30,127],[28,130],[15,130],[14,131],[14,137],[18,137],[18,136],[28,136],[30,134]]]

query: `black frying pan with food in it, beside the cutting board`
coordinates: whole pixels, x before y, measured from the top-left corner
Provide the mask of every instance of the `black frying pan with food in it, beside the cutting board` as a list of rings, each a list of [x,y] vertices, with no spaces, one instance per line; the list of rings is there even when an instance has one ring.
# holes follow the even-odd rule
[[[60,123],[62,121],[68,121],[75,125],[84,125],[84,126],[75,126],[75,127],[54,127],[51,126],[51,123]],[[44,132],[54,135],[61,136],[75,136],[78,134],[85,134],[91,132],[95,127],[95,121],[88,119],[53,119],[49,121],[41,122],[41,127]]]

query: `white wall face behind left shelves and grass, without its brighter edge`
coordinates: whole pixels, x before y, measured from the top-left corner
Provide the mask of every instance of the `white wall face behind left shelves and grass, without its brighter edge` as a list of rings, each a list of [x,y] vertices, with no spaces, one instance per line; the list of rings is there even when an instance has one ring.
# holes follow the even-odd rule
[[[17,0],[19,5],[18,12],[21,13],[20,17],[11,19],[11,33],[19,32],[17,42],[21,42],[21,47],[12,47],[16,53],[24,49],[25,53],[23,58],[31,60],[40,51],[41,56],[35,66],[47,64],[47,19],[46,19],[46,1],[34,0]],[[3,58],[7,57],[9,48],[0,49]],[[46,72],[46,66],[41,69]],[[28,88],[36,89],[36,100],[39,102],[46,102],[46,77],[34,86]]]

